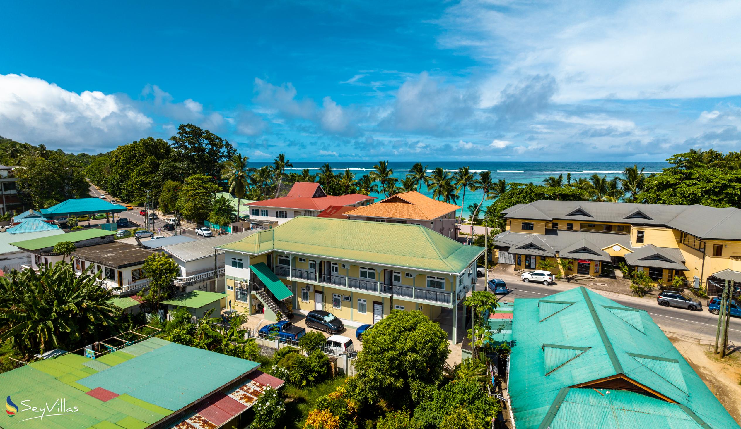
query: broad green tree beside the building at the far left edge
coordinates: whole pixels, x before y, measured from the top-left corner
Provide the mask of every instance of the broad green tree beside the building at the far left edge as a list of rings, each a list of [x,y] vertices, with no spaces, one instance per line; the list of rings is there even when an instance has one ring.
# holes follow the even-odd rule
[[[18,194],[24,203],[46,208],[70,198],[90,196],[90,183],[82,169],[71,167],[55,152],[47,158],[26,157],[16,169]]]

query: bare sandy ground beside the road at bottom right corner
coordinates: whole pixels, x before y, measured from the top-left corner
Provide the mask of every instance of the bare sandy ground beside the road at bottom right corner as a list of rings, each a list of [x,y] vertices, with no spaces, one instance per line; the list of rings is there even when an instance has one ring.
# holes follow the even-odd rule
[[[715,397],[739,422],[741,420],[741,348],[737,347],[731,354],[720,359],[720,354],[713,353],[713,345],[697,342],[694,339],[669,335],[669,340],[679,350],[691,367],[700,375],[705,385]]]

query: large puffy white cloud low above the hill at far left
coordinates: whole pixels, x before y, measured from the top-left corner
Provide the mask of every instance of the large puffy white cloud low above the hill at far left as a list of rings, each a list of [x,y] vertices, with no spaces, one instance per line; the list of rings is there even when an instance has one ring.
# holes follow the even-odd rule
[[[77,94],[40,78],[0,75],[0,129],[7,138],[96,152],[142,138],[152,124],[125,96]]]

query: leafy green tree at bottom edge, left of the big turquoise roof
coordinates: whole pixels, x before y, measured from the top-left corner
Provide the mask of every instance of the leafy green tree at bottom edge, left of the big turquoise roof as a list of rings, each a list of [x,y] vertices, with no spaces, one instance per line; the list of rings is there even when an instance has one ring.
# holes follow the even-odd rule
[[[477,380],[462,378],[431,390],[428,399],[414,410],[414,419],[427,429],[489,429],[497,411],[499,403],[481,388]],[[451,415],[459,417],[451,420]],[[456,425],[458,419],[459,425]]]

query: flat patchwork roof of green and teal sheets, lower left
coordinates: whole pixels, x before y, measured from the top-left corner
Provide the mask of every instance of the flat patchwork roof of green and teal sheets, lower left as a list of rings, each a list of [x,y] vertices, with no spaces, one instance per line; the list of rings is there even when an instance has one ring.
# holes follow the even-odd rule
[[[143,429],[258,366],[249,360],[159,338],[98,359],[64,354],[0,374],[2,395],[10,399],[7,409],[15,410],[13,416],[0,413],[0,428]],[[41,413],[24,409],[24,405],[48,405],[54,411],[45,412],[44,419],[39,419]],[[57,411],[59,406],[77,407],[78,411],[55,415],[62,414]]]

